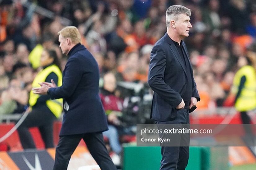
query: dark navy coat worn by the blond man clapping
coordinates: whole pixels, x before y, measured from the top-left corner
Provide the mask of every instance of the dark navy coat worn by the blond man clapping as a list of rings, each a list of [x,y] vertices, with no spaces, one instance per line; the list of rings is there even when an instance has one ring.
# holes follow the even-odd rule
[[[108,130],[99,96],[99,67],[92,54],[79,45],[72,50],[63,71],[62,86],[49,89],[52,99],[63,98],[61,135]]]

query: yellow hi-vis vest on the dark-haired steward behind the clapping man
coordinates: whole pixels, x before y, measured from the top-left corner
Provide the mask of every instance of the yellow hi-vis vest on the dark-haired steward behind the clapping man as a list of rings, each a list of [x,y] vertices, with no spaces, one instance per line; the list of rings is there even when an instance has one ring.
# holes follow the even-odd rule
[[[38,74],[36,75],[36,77],[32,83],[32,87],[40,87],[40,85],[38,83],[45,82],[47,76],[52,72],[54,72],[58,76],[57,86],[61,86],[62,85],[61,70],[56,65],[51,65],[51,66],[48,66],[45,69],[42,69],[38,72]],[[31,108],[36,104],[39,97],[40,97],[40,95],[34,94],[32,91],[30,91],[29,106]],[[47,100],[46,105],[57,118],[59,118],[61,116],[62,99]]]

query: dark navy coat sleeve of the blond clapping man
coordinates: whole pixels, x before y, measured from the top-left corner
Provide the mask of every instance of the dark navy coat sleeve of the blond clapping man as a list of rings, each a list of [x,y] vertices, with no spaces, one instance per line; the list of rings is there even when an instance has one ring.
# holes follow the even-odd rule
[[[65,75],[61,87],[50,88],[48,94],[51,99],[68,98],[76,89],[83,75],[83,69],[77,58],[72,57],[68,60],[65,67]]]

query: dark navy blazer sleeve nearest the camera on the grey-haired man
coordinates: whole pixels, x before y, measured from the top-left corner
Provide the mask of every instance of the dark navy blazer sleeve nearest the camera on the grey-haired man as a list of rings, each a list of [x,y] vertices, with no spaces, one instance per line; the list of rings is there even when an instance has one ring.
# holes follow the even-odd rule
[[[182,97],[164,82],[164,71],[166,68],[166,54],[160,45],[155,45],[151,51],[148,84],[160,97],[162,97],[173,108],[182,101]],[[170,68],[171,69],[171,68]]]

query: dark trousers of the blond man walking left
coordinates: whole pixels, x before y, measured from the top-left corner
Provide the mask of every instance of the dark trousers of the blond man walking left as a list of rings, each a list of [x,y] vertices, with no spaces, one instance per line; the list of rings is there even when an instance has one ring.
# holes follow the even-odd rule
[[[116,169],[105,146],[102,132],[97,132],[60,136],[58,146],[56,147],[54,170],[65,170],[68,168],[70,157],[81,139],[86,143],[88,150],[101,170]]]

